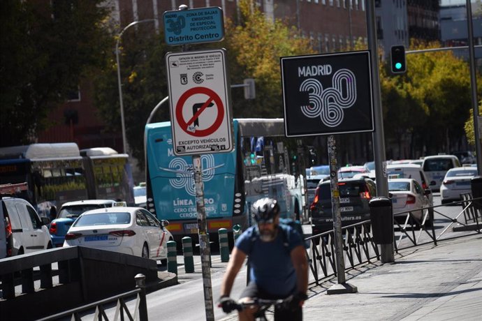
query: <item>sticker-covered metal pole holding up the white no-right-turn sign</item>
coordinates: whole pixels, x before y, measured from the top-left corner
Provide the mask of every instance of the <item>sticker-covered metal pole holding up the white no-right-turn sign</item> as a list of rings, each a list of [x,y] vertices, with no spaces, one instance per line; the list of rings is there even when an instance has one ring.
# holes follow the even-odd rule
[[[198,213],[199,253],[203,273],[206,320],[214,321],[210,270],[210,241],[207,236],[206,211],[204,207],[203,165],[200,155],[193,155],[194,185],[196,187],[196,210]]]

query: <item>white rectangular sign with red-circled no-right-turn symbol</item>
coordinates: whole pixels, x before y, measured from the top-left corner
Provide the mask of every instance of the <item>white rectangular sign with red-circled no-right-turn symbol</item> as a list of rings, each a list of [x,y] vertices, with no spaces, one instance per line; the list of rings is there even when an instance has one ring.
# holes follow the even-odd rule
[[[166,66],[174,154],[232,151],[226,51],[170,52]]]

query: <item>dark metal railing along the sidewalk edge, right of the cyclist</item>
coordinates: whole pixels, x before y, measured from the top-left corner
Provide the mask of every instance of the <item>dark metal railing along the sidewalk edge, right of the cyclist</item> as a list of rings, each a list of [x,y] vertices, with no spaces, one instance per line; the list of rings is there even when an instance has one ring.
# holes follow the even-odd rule
[[[467,195],[465,198],[462,197],[462,201],[459,202],[418,209],[417,211],[422,211],[423,216],[415,215],[417,211],[404,211],[395,214],[394,218],[397,219],[394,220],[394,228],[400,232],[396,240],[394,239],[395,253],[398,253],[401,249],[422,244],[433,243],[437,246],[437,240],[454,223],[467,227],[470,222],[474,221],[476,227],[473,230],[481,233],[482,223],[479,225],[479,221],[481,221],[482,214],[480,209],[474,207],[474,200],[482,200],[482,197],[473,199],[471,195]],[[462,205],[462,211],[454,218],[439,211],[439,208],[442,206],[457,204]],[[435,213],[450,221],[439,234],[436,234],[434,228]],[[465,218],[463,221],[461,219],[462,215]],[[396,221],[402,221],[402,223],[397,223]],[[358,265],[380,260],[379,248],[374,243],[370,220],[342,227],[342,234],[345,269],[353,269]],[[421,241],[422,235],[428,235],[429,241]],[[310,282],[310,284],[316,283],[316,285],[320,285],[324,278],[337,276],[333,231],[316,234],[305,240],[310,243],[307,255],[309,257],[309,268],[314,278],[314,281]],[[402,241],[404,241],[403,244]]]

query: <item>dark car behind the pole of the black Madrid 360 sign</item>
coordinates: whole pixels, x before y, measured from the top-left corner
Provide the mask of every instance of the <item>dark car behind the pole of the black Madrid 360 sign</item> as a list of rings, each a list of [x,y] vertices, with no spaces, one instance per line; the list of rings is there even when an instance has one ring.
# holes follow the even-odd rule
[[[338,189],[342,226],[370,219],[368,202],[377,196],[377,188],[372,179],[339,179]],[[318,184],[310,210],[313,235],[333,230],[330,181],[321,181]]]

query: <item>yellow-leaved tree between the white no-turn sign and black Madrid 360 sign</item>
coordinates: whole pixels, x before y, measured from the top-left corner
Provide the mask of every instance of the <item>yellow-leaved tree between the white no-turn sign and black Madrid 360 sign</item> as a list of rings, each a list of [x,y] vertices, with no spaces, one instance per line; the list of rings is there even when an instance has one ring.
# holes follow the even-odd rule
[[[312,54],[309,40],[300,37],[294,27],[281,20],[274,22],[255,5],[256,1],[241,0],[240,24],[226,22],[231,83],[241,84],[244,78],[254,78],[256,99],[245,100],[243,92],[233,90],[234,117],[282,117],[282,86],[279,57]]]

